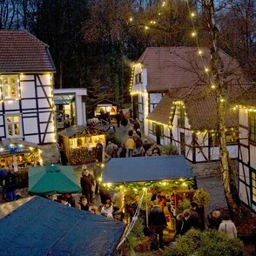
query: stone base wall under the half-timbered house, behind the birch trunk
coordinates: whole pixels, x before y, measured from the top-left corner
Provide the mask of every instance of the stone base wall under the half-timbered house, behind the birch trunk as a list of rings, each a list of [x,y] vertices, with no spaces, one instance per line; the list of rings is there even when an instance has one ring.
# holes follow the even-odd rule
[[[197,163],[193,164],[188,162],[188,165],[191,167],[193,174],[195,177],[199,178],[207,178],[216,175],[221,175],[220,168],[219,168],[219,161],[216,162],[205,162],[205,163]],[[235,175],[237,180],[238,177],[238,160],[232,159],[231,160],[232,171]]]

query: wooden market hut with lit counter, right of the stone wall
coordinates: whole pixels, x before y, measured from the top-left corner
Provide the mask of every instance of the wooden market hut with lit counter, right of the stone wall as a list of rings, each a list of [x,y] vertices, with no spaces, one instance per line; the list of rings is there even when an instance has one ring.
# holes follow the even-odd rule
[[[70,165],[83,165],[96,160],[95,148],[98,141],[105,146],[105,131],[74,125],[60,131],[58,141],[63,146]]]

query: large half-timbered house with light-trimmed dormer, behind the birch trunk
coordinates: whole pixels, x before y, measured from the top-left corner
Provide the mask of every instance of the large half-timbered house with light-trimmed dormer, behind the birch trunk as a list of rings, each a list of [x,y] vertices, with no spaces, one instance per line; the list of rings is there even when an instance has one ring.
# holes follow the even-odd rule
[[[209,51],[192,47],[147,48],[133,66],[133,115],[158,145],[173,144],[192,163],[219,159],[214,84],[207,73]],[[219,52],[226,67],[229,98],[248,88],[239,64]],[[226,118],[228,151],[237,158],[238,115]]]

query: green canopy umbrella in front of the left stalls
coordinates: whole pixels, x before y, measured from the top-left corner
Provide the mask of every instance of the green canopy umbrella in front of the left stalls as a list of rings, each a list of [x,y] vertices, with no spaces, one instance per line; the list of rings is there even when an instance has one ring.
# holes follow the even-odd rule
[[[46,165],[29,168],[29,192],[37,195],[82,192],[71,166]]]

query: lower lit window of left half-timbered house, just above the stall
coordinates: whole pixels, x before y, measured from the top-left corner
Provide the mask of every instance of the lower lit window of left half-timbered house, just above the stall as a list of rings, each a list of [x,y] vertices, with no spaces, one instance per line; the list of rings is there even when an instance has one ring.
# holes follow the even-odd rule
[[[21,117],[19,114],[6,115],[6,135],[8,138],[21,137]]]

